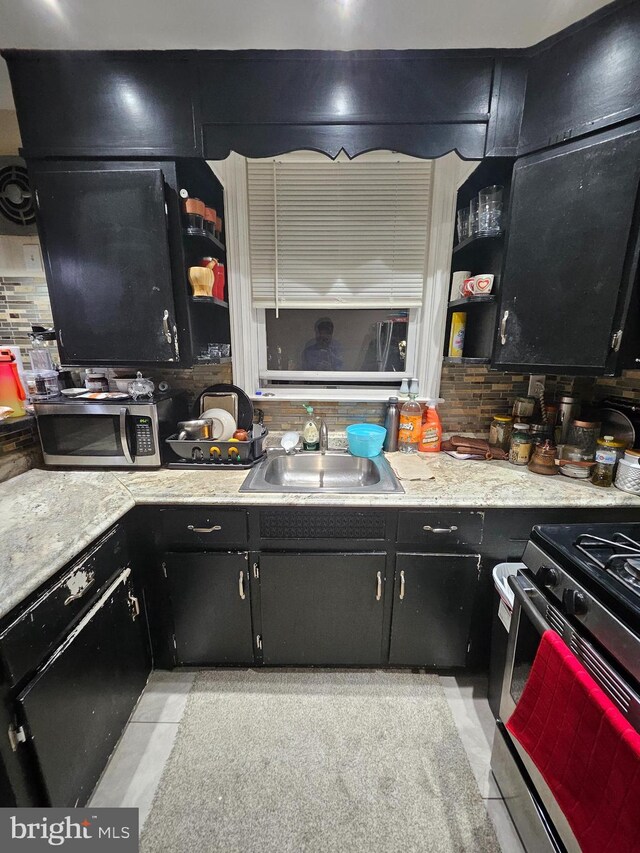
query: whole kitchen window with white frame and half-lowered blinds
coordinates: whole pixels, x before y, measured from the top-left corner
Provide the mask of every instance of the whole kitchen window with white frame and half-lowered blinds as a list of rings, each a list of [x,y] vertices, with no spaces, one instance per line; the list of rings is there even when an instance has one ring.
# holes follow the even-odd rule
[[[235,381],[280,399],[311,386],[314,399],[383,400],[417,376],[436,396],[460,163],[211,163],[225,186]]]

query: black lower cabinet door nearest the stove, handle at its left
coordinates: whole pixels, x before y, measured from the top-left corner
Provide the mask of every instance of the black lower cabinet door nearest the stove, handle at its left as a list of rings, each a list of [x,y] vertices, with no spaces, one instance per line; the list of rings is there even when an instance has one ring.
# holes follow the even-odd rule
[[[476,554],[398,554],[390,664],[465,665],[479,572]]]

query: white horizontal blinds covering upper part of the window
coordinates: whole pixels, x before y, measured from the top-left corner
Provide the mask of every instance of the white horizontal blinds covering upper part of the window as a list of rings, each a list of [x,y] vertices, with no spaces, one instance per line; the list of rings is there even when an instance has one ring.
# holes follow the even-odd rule
[[[432,164],[249,160],[258,308],[422,304]]]

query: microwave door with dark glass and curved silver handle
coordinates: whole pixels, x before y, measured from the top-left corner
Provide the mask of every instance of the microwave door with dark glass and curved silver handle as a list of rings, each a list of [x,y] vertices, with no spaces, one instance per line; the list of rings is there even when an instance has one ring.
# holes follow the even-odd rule
[[[35,406],[47,465],[127,467],[135,464],[129,408],[100,403]]]

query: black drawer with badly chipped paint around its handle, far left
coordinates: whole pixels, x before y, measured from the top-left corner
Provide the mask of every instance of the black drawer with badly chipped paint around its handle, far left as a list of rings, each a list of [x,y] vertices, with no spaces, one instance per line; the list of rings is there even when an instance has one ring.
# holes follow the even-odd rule
[[[109,578],[128,563],[125,531],[116,525],[58,580],[17,609],[0,632],[0,655],[12,685],[41,663]]]

